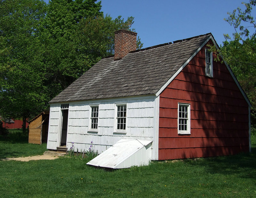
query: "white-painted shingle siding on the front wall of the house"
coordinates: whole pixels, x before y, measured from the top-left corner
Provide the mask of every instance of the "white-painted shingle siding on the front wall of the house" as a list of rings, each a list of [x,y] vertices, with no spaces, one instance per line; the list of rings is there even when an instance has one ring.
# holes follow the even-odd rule
[[[127,105],[126,130],[123,133],[115,131],[116,104]],[[99,106],[98,131],[91,130],[91,106]],[[56,108],[56,106],[59,106]],[[60,104],[51,106],[54,116],[50,119],[50,130],[58,130],[60,134],[61,121]],[[158,128],[156,128],[156,96],[126,97],[118,99],[99,99],[90,101],[69,102],[67,147],[74,142],[75,150],[88,150],[93,141],[93,149],[103,152],[120,139],[142,139],[153,141]],[[51,113],[50,113],[51,115]],[[59,136],[50,136],[50,141],[56,141]],[[157,140],[158,141],[158,140]],[[48,140],[49,142],[49,140]],[[59,142],[58,140],[56,141]],[[56,149],[54,143],[51,149]],[[153,144],[152,144],[153,145]],[[49,146],[50,147],[50,146]],[[55,148],[53,148],[55,147]],[[47,147],[48,148],[48,147]],[[153,149],[156,149],[154,147]]]

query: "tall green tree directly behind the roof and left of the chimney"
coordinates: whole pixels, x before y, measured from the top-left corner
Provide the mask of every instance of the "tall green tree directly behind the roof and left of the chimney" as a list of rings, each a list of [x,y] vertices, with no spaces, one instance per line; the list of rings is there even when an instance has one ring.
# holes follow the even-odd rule
[[[52,0],[45,18],[46,66],[55,92],[68,87],[102,57],[114,52],[114,31],[130,30],[133,17],[112,19],[95,0]],[[138,45],[142,44],[138,40]]]

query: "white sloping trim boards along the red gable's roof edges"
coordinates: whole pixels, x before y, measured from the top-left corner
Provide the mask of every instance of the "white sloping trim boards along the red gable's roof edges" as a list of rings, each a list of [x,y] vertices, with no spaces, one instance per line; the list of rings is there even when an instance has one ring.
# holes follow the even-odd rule
[[[206,40],[203,42],[203,44],[195,51],[195,53],[194,53],[192,56],[190,56],[190,58],[180,67],[180,69],[177,70],[177,71],[175,72],[175,74],[173,74],[173,76],[158,90],[158,92],[156,92],[156,97],[158,97],[158,96],[164,91],[164,89],[172,82],[172,80],[178,76],[178,74],[181,72],[181,70],[183,70],[183,68],[188,64],[188,62],[191,61],[192,58],[194,58],[194,56],[204,47],[204,45],[205,45],[209,40],[212,40],[212,42],[213,42],[213,44],[215,45],[215,47],[216,47],[217,49],[220,49],[219,46],[218,46],[218,44],[215,42],[214,38],[213,38],[212,35],[211,35],[208,39],[206,39]],[[241,92],[242,95],[244,96],[244,99],[245,99],[246,102],[248,103],[249,107],[251,107],[252,105],[251,105],[249,99],[247,98],[246,94],[244,93],[244,90],[242,89],[241,85],[240,85],[239,82],[237,81],[237,79],[236,79],[235,75],[233,74],[232,70],[230,69],[230,67],[228,66],[228,64],[224,61],[224,59],[223,59],[222,56],[221,56],[221,58],[222,58],[224,64],[226,65],[226,67],[227,67],[229,73],[231,74],[232,78],[234,79],[234,81],[235,81],[237,87],[239,88],[240,92]]]

